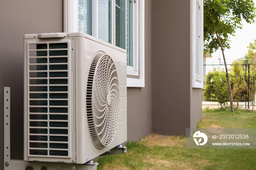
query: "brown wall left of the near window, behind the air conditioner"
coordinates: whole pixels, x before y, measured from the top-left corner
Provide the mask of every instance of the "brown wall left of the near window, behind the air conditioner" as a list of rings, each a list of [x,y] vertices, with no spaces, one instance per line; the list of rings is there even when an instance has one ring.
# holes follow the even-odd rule
[[[23,35],[62,31],[63,0],[1,1],[0,160],[3,160],[4,86],[11,87],[11,159],[23,159]]]

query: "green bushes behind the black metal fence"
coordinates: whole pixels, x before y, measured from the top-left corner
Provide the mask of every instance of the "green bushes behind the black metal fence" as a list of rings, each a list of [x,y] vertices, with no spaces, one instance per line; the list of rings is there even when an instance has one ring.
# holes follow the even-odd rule
[[[229,70],[233,101],[236,102],[238,109],[240,101],[249,100],[255,111],[256,64],[244,65],[243,63],[244,60],[238,59],[232,63]],[[208,72],[205,76],[203,100],[218,101],[223,108],[229,101],[226,73],[224,70],[217,69]]]

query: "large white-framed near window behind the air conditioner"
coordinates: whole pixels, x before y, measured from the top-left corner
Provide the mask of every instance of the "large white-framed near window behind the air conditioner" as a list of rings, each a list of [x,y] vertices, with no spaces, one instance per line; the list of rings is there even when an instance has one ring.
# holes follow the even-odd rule
[[[64,0],[64,31],[127,50],[127,86],[144,87],[144,0]]]

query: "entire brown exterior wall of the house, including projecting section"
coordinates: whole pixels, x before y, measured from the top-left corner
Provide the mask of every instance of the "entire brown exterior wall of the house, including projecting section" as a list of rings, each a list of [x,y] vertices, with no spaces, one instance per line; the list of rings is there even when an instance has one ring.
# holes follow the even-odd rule
[[[202,89],[191,85],[191,1],[145,0],[145,87],[127,88],[128,140],[185,134],[202,118]],[[0,160],[4,86],[11,87],[11,159],[23,159],[23,35],[62,32],[63,0],[3,1],[0,23]]]

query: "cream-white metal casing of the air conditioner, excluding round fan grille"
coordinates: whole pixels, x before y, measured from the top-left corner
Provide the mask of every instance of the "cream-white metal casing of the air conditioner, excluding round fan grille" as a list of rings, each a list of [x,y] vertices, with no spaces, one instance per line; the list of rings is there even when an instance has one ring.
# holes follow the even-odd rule
[[[56,49],[58,47],[54,47],[53,49],[50,49],[50,44],[57,44],[57,43],[67,43],[66,49]],[[37,49],[37,47],[33,48],[32,46],[34,44],[42,44],[43,46],[46,44],[46,49]],[[64,56],[55,54],[50,54],[52,51],[56,52],[54,50],[64,50],[67,53],[64,54]],[[37,51],[38,54],[37,54]],[[44,52],[41,52],[44,51]],[[51,51],[51,52],[50,52]],[[117,124],[117,130],[114,136],[114,139],[112,143],[110,143],[108,146],[98,149],[94,146],[94,143],[92,142],[92,139],[90,137],[88,125],[87,125],[87,117],[86,117],[86,86],[87,86],[87,79],[88,79],[88,73],[91,66],[91,62],[94,58],[94,56],[99,53],[103,52],[110,56],[114,62],[114,65],[116,67],[116,72],[118,76],[118,84],[119,84],[119,114],[118,114],[118,124]],[[40,53],[40,54],[39,54]],[[47,53],[42,54],[41,53]],[[51,101],[55,99],[49,98],[49,95],[52,95],[50,92],[50,88],[53,86],[50,84],[50,81],[52,81],[52,77],[49,76],[49,73],[53,72],[59,72],[58,70],[50,70],[52,65],[56,65],[53,61],[53,63],[50,63],[51,58],[67,58],[67,63],[62,63],[62,65],[67,65],[67,69],[65,72],[67,72],[66,77],[58,77],[55,79],[67,79],[67,85],[68,90],[67,92],[67,98],[65,99],[59,99],[60,101],[65,101],[67,103],[67,106],[64,106],[64,108],[67,108],[67,113],[56,113],[62,114],[64,116],[67,116],[67,120],[63,120],[64,124],[67,124],[67,127],[61,127],[58,129],[67,129],[68,133],[65,135],[59,135],[59,136],[65,136],[68,138],[68,141],[65,142],[51,142],[49,141],[49,137],[53,136],[50,134],[50,130],[55,130],[57,127],[54,127],[54,123],[52,121],[55,121],[55,123],[63,123],[61,120],[50,120],[50,115],[54,113],[54,110],[52,109],[52,106],[50,104]],[[38,58],[46,58],[47,63],[31,63],[33,59]],[[116,147],[117,145],[123,143],[127,139],[127,82],[126,82],[126,51],[113,46],[109,43],[102,42],[99,39],[96,39],[90,35],[81,33],[81,32],[74,32],[74,33],[49,33],[49,34],[28,34],[24,36],[24,160],[25,161],[42,161],[42,162],[67,162],[67,163],[78,163],[82,164],[87,162],[88,160],[91,160],[104,152]],[[42,62],[44,62],[44,59],[41,59]],[[57,65],[60,65],[60,63],[57,63]],[[38,71],[38,69],[34,69],[34,71],[30,70],[32,69],[33,65],[37,65],[39,67],[43,67],[40,65],[45,65],[47,69],[43,69]],[[63,70],[61,70],[63,71]],[[45,79],[45,82],[47,84],[40,84],[38,85],[37,81],[38,77],[31,78],[30,75],[32,72],[36,72],[35,74],[38,74],[38,72],[45,72],[47,73],[47,77],[45,78],[39,78],[39,79]],[[34,74],[34,73],[33,73]],[[41,73],[40,73],[41,74]],[[35,80],[34,80],[35,79]],[[41,80],[40,80],[41,81]],[[45,92],[30,92],[32,86],[36,86],[37,88],[39,86],[45,86],[47,88],[47,91]],[[57,87],[60,85],[55,85],[54,87]],[[63,85],[62,85],[63,86]],[[39,87],[41,88],[41,87]],[[38,99],[37,97],[34,97],[33,99],[30,98],[31,93],[45,93],[45,96],[47,98],[45,99]],[[56,92],[56,93],[62,93],[62,92]],[[54,93],[55,94],[55,93]],[[35,100],[35,101],[33,101]],[[44,101],[42,101],[44,100]],[[40,107],[40,106],[31,106],[31,105],[37,105],[39,103],[44,103],[44,108],[42,111],[45,111],[44,113],[39,113],[38,111],[35,111],[36,113],[31,114],[30,109],[31,107]],[[56,102],[56,101],[55,101]],[[31,105],[30,105],[31,104]],[[62,106],[57,106],[62,107]],[[37,108],[38,109],[38,108]],[[50,109],[53,110],[53,112],[49,112]],[[33,110],[33,109],[32,109]],[[47,112],[46,112],[47,110]],[[44,115],[46,118],[44,120],[31,120],[30,115]],[[34,116],[35,117],[35,116]],[[42,116],[41,116],[42,117]],[[34,118],[33,118],[34,119]],[[37,119],[37,118],[36,118]],[[39,122],[40,121],[40,122]],[[45,138],[47,138],[47,141],[39,141],[39,145],[41,146],[47,146],[46,148],[39,148],[39,150],[44,150],[42,153],[43,155],[32,155],[30,154],[29,150],[33,150],[34,146],[38,146],[35,143],[38,143],[37,141],[34,142],[30,140],[30,136],[37,136],[38,134],[30,134],[30,130],[33,128],[33,124],[42,124],[44,127],[35,127],[37,129],[36,132],[33,133],[39,133],[46,132],[46,134],[43,134]],[[53,127],[50,127],[51,124]],[[43,131],[42,129],[45,129]],[[42,132],[41,132],[42,131]],[[58,136],[57,135],[57,136]],[[56,136],[56,135],[55,135]],[[46,140],[46,139],[45,139]],[[41,145],[42,143],[45,143],[45,145]],[[47,143],[47,144],[46,144]],[[65,149],[53,149],[49,148],[50,144],[64,144],[68,147]],[[31,147],[31,144],[34,145]],[[38,148],[35,148],[34,150],[38,150]],[[63,151],[64,154],[67,153],[65,156],[58,156],[58,155],[50,155],[49,152],[52,151]],[[36,152],[36,151],[35,151]],[[44,154],[45,153],[45,154]]]

